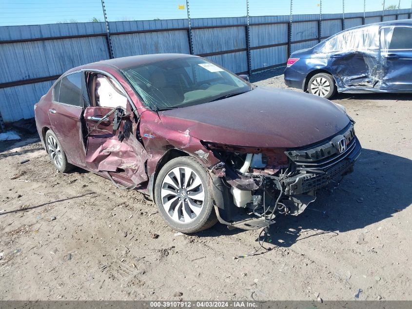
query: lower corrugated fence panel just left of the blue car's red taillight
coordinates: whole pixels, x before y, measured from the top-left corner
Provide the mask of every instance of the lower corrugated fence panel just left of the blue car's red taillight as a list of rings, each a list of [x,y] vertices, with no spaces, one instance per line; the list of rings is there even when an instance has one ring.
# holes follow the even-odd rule
[[[251,69],[260,69],[288,61],[288,45],[251,50]]]

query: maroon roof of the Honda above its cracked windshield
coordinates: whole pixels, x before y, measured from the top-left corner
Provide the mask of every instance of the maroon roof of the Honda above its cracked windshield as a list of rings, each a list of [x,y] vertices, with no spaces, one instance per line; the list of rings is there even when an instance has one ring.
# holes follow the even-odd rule
[[[195,55],[188,55],[188,54],[150,54],[150,55],[138,55],[138,56],[129,56],[129,57],[121,57],[109,60],[103,60],[99,62],[93,62],[89,64],[84,64],[74,68],[76,70],[79,69],[93,69],[93,68],[100,68],[102,65],[111,66],[112,68],[116,69],[125,69],[128,67],[134,67],[142,64],[148,64],[153,62],[165,61],[165,60],[173,60],[179,58],[194,58],[198,57]],[[74,70],[72,69],[72,70]],[[72,71],[70,70],[70,71]]]

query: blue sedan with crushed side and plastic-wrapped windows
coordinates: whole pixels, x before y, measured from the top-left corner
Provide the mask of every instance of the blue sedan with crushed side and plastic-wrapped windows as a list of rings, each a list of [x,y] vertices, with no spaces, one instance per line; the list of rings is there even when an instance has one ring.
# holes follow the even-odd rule
[[[292,53],[285,83],[326,99],[337,92],[412,93],[412,20],[344,30]]]

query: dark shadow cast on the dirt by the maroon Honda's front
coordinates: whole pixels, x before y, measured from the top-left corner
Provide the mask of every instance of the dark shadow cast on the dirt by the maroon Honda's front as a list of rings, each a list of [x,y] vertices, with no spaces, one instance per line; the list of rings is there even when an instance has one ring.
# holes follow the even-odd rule
[[[278,215],[271,226],[272,243],[290,247],[308,237],[321,234],[336,236],[341,232],[362,229],[390,218],[412,203],[410,180],[412,161],[389,153],[363,149],[355,170],[343,178],[337,188],[324,188],[317,199],[299,216]],[[308,231],[308,235],[303,232]],[[234,235],[216,225],[199,236]],[[256,236],[260,230],[256,231]],[[256,238],[257,241],[257,238]]]

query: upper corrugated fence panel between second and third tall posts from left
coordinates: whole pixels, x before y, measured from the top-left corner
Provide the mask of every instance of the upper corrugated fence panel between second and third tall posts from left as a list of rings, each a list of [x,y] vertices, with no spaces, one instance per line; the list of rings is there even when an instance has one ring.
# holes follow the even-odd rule
[[[197,29],[192,31],[192,36],[196,54],[246,48],[244,26]]]

